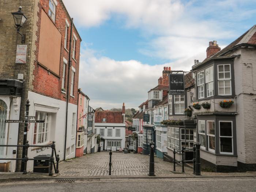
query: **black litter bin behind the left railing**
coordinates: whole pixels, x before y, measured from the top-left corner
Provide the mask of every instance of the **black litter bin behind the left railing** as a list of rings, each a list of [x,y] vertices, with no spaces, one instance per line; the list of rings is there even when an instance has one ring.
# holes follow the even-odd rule
[[[33,172],[36,173],[49,173],[49,160],[51,155],[37,155],[34,157],[34,169]],[[41,160],[41,158],[45,158],[47,160]]]

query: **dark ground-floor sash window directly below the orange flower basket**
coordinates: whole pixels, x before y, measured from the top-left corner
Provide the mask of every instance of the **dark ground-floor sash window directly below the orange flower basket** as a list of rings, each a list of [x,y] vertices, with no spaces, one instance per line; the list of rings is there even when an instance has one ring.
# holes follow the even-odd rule
[[[220,154],[233,154],[233,122],[219,121]]]

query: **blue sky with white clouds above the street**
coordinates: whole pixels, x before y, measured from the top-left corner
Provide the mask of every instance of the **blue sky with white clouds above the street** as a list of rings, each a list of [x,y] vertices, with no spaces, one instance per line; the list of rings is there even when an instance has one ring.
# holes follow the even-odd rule
[[[163,67],[191,70],[256,24],[256,0],[63,0],[82,38],[79,88],[94,109],[138,109]]]

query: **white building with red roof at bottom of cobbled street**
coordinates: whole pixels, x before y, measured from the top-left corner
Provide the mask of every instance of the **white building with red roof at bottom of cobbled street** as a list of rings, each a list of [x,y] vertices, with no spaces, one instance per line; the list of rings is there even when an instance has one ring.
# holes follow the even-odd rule
[[[122,112],[95,111],[95,132],[101,136],[101,150],[124,150],[125,147],[125,106]]]

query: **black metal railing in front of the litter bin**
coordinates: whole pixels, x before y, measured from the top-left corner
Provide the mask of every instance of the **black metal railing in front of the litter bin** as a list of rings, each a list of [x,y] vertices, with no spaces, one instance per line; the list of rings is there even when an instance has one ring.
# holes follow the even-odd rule
[[[53,176],[53,171],[52,168],[54,167],[54,172],[55,173],[59,173],[59,154],[56,153],[56,149],[55,149],[55,142],[53,141],[52,144],[49,145],[30,145],[29,141],[26,141],[25,145],[0,145],[0,147],[23,147],[23,149],[25,148],[25,157],[24,158],[0,158],[0,160],[21,160],[24,162],[24,169],[23,169],[23,174],[27,174],[27,161],[30,160],[49,160],[49,176]],[[52,148],[52,154],[50,158],[28,158],[27,157],[27,151],[29,147],[51,147]],[[54,157],[53,155],[55,155],[56,158],[56,166],[54,163]]]

